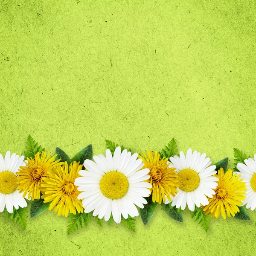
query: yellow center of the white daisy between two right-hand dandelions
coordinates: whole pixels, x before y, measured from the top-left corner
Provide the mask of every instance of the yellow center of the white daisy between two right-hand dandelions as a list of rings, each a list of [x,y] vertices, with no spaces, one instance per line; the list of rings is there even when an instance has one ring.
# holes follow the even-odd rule
[[[192,169],[183,169],[179,172],[179,188],[186,192],[191,192],[195,190],[200,181],[200,177]]]

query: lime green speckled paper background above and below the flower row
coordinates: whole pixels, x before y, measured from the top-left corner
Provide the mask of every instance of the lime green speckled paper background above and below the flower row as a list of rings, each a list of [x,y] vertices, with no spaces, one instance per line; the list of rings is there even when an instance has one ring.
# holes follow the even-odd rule
[[[184,2],[184,3],[183,3]],[[256,3],[247,0],[1,0],[0,153],[28,134],[73,156],[105,139],[133,151],[179,150],[212,162],[256,153]],[[240,256],[256,253],[251,221],[213,219],[208,233],[184,212],[157,207],[136,232],[91,221],[70,236],[44,212],[27,229],[0,214],[0,255]]]

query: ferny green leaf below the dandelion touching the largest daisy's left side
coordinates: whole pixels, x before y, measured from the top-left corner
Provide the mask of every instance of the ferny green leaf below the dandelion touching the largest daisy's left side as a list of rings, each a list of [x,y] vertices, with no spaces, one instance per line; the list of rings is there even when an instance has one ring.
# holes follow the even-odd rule
[[[91,212],[89,213],[76,213],[72,214],[70,213],[68,215],[69,221],[67,226],[67,234],[70,235],[71,233],[75,232],[76,230],[79,230],[79,228],[87,227],[87,225],[90,222]]]

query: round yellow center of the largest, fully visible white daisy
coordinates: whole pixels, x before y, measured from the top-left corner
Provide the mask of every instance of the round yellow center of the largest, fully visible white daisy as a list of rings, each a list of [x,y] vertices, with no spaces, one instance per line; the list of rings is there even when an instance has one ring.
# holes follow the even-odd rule
[[[121,172],[107,172],[100,180],[99,187],[107,198],[122,198],[128,191],[129,182]]]

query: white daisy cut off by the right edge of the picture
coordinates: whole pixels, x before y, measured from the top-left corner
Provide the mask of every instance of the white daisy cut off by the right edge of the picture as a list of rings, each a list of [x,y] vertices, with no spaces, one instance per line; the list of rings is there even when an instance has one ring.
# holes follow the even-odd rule
[[[244,164],[245,163],[245,164]],[[256,208],[256,154],[253,158],[244,160],[244,163],[238,163],[236,168],[239,172],[234,172],[241,175],[241,179],[246,183],[246,195],[243,205],[252,211]]]

